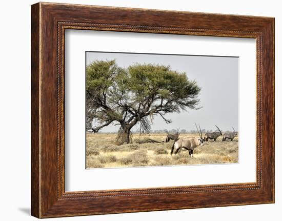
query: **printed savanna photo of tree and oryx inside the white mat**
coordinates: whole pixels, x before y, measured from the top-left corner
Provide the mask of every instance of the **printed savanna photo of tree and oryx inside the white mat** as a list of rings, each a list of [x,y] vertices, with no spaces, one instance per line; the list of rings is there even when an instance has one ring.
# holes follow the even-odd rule
[[[239,58],[86,52],[86,168],[236,164]]]

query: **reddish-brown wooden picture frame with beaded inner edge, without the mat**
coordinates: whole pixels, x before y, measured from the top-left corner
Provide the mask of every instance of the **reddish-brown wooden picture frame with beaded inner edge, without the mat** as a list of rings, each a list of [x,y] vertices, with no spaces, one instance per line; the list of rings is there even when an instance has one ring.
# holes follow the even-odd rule
[[[274,18],[53,3],[37,3],[31,9],[33,216],[274,203]],[[255,38],[256,182],[65,192],[66,29]]]

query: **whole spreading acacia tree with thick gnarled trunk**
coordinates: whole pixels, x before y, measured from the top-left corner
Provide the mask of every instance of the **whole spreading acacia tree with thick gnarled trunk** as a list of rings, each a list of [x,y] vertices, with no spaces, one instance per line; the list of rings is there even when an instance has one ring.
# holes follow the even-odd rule
[[[120,125],[117,141],[130,143],[130,130],[139,123],[149,133],[155,115],[169,124],[167,113],[197,109],[200,88],[186,73],[170,66],[134,64],[120,68],[115,61],[94,61],[86,68],[86,129],[98,132]]]

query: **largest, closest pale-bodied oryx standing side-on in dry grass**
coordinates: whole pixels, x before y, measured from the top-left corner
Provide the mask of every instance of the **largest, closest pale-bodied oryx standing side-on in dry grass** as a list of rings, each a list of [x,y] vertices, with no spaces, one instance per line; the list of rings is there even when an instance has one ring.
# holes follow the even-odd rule
[[[196,124],[195,124],[196,125]],[[191,157],[193,157],[193,150],[201,145],[204,145],[204,140],[203,140],[203,135],[202,135],[202,130],[200,129],[200,125],[199,125],[199,129],[200,129],[200,133],[198,130],[198,127],[196,125],[198,134],[199,134],[199,138],[178,138],[174,141],[172,147],[171,147],[171,152],[170,154],[172,155],[174,148],[176,149],[175,154],[182,148],[182,149],[186,149],[189,151],[189,155]]]

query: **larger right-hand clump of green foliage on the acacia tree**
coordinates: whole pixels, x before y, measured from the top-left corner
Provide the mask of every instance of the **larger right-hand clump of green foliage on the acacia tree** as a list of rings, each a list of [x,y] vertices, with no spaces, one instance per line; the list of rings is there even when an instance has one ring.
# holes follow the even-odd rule
[[[159,105],[168,107],[165,112],[196,109],[200,88],[195,81],[188,80],[186,73],[173,71],[169,66],[136,64],[128,68],[128,75],[128,90],[133,92],[134,101],[147,98],[153,105],[160,102]]]

